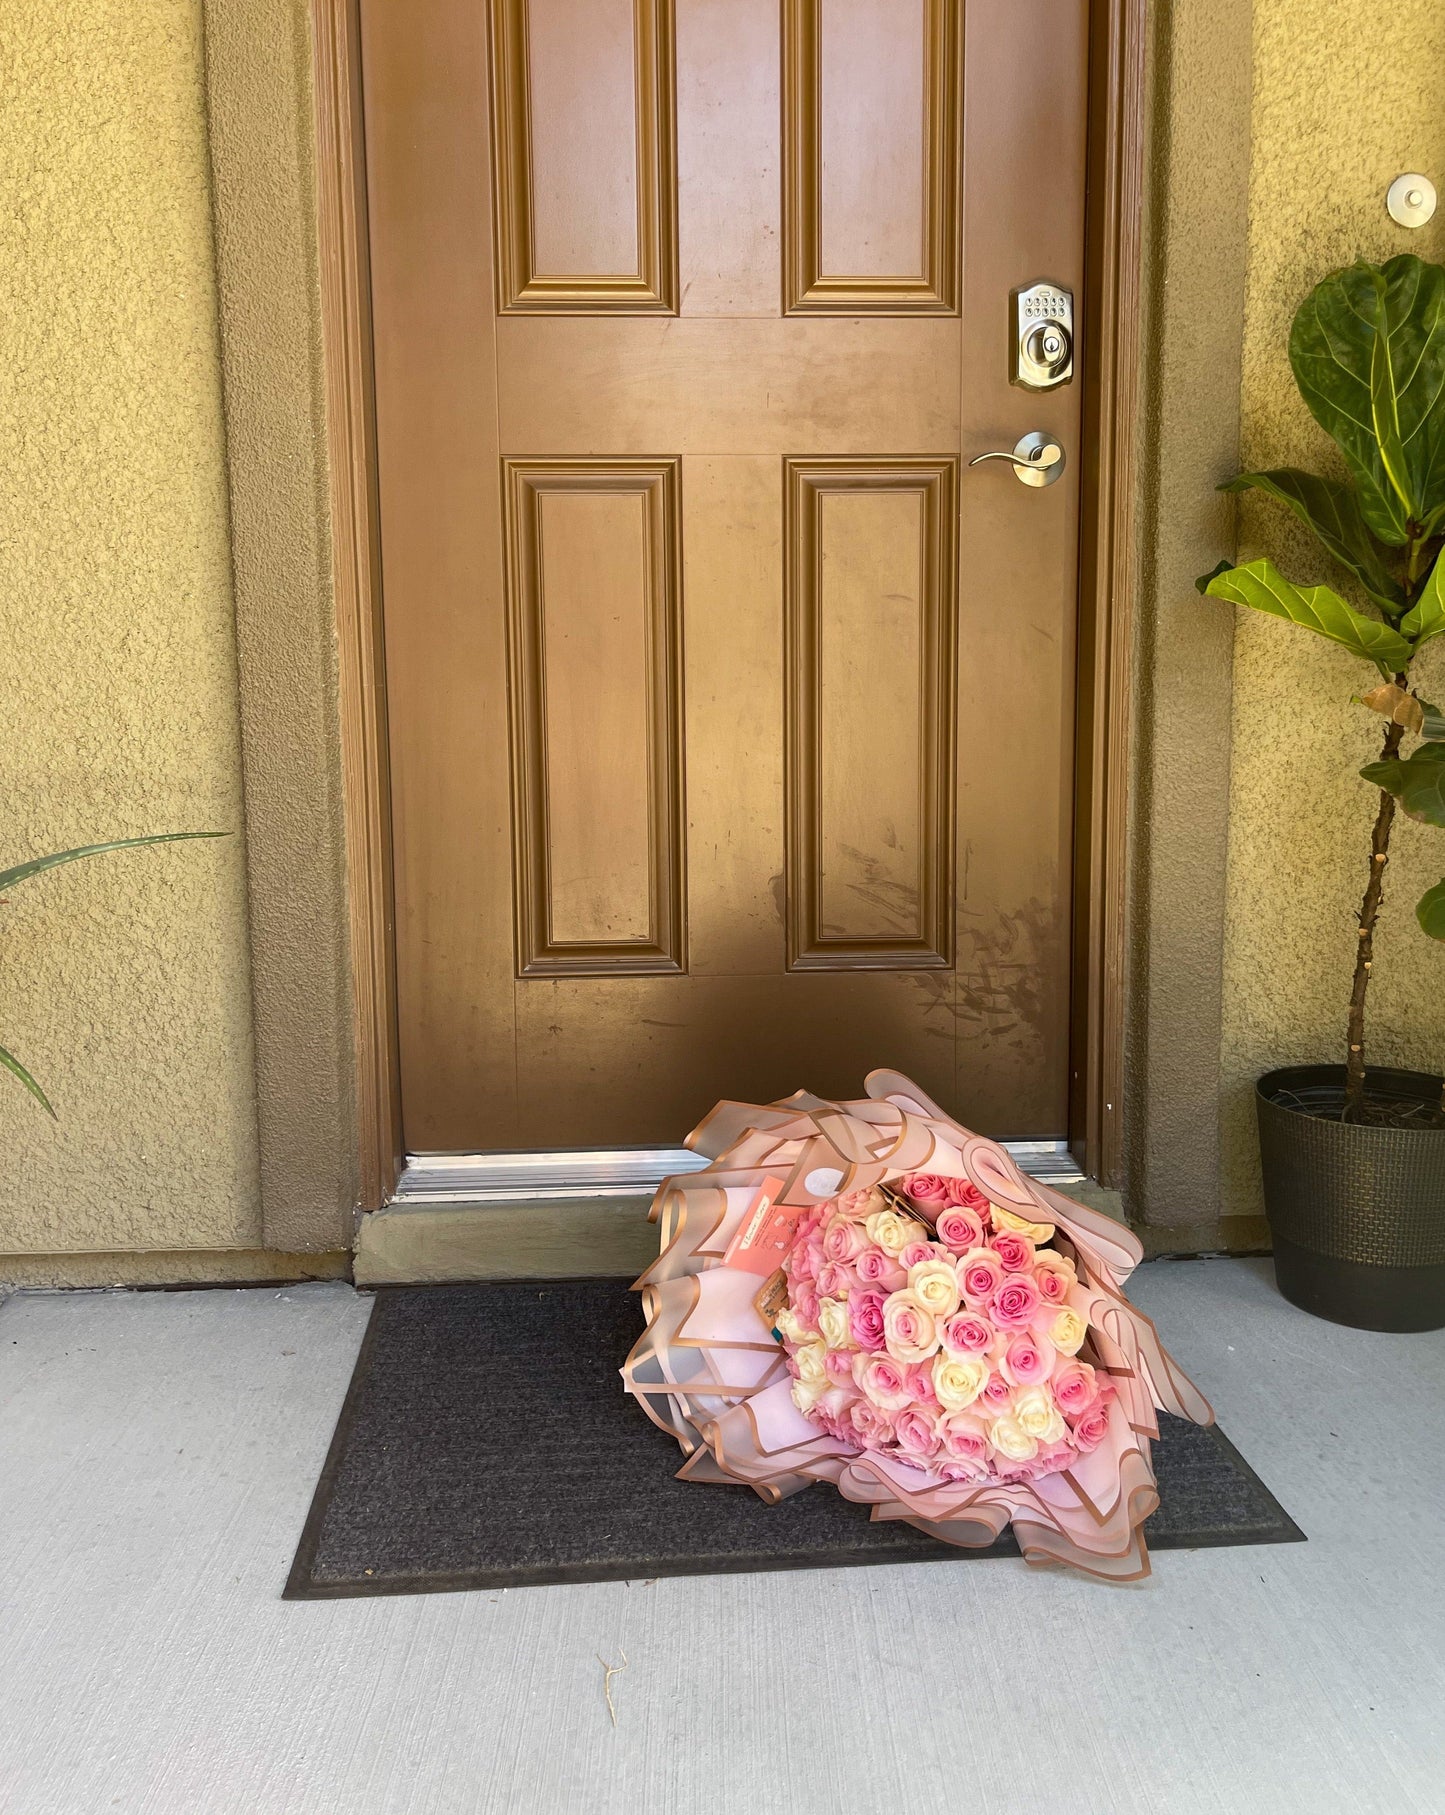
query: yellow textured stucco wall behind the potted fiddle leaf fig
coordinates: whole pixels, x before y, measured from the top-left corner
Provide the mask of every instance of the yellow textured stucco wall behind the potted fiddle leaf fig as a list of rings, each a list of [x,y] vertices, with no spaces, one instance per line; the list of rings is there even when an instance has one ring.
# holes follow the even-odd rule
[[[1440,0],[1256,0],[1243,461],[1320,468],[1332,446],[1291,378],[1300,299],[1356,256],[1445,258],[1445,214],[1396,227],[1383,198],[1401,171],[1445,189],[1445,7]],[[1287,515],[1249,505],[1242,559],[1269,552],[1300,581],[1342,586]],[[1342,590],[1347,590],[1342,586]],[[1418,673],[1440,699],[1445,650]],[[1240,612],[1234,632],[1229,893],[1224,991],[1224,1209],[1258,1207],[1253,1080],[1276,1064],[1340,1062],[1354,909],[1376,797],[1356,777],[1378,719],[1351,706],[1369,673],[1293,626]],[[1400,822],[1371,986],[1380,1064],[1445,1064],[1445,947],[1414,922],[1445,875],[1445,835]]]

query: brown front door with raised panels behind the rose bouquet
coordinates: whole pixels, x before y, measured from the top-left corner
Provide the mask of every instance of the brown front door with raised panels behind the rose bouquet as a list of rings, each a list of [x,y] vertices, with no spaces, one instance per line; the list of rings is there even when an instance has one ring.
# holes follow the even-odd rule
[[[1064,1134],[1086,13],[365,0],[412,1151]]]

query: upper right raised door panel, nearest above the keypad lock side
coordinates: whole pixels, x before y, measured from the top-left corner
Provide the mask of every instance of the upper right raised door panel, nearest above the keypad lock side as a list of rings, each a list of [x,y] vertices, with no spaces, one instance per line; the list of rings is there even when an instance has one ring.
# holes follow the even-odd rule
[[[784,309],[958,312],[958,0],[784,0]]]

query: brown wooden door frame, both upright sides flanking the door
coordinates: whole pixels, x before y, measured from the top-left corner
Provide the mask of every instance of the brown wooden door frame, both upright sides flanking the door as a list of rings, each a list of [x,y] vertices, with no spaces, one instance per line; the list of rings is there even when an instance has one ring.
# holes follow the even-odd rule
[[[358,0],[309,0],[361,1209],[403,1163]],[[1147,0],[1089,24],[1069,1143],[1122,1171]]]

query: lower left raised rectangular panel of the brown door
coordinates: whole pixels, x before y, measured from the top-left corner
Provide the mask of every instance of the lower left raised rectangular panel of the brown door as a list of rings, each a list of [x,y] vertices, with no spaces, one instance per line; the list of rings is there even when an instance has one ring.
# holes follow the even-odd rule
[[[675,461],[506,461],[517,973],[684,966]]]

